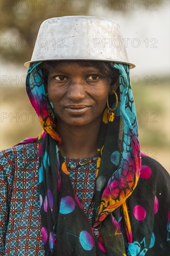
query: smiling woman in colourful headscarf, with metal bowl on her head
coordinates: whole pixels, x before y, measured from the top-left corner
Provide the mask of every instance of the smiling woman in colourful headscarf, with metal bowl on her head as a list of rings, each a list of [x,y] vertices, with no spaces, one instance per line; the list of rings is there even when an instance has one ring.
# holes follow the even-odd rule
[[[106,34],[98,17],[40,27],[26,91],[43,132],[1,152],[1,255],[169,255],[169,175],[140,153],[134,65]]]

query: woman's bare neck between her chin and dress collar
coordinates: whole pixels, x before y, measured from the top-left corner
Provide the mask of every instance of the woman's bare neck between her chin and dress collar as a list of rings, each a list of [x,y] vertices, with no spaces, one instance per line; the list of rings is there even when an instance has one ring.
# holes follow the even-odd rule
[[[82,127],[58,122],[58,133],[62,139],[59,145],[61,154],[73,158],[97,155],[99,128],[100,119]]]

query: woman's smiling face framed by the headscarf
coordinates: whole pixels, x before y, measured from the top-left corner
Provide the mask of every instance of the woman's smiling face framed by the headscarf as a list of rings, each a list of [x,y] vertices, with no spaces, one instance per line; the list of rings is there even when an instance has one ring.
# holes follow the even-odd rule
[[[102,118],[111,79],[98,67],[77,61],[57,62],[48,76],[48,96],[59,117],[71,126],[84,126]]]

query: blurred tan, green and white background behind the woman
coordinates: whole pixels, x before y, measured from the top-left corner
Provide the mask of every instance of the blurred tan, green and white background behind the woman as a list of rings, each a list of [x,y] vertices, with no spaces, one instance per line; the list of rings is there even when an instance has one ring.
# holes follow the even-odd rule
[[[170,171],[170,1],[1,0],[0,149],[41,131],[25,92],[27,68],[43,20],[102,16],[120,25],[131,70],[142,152]]]

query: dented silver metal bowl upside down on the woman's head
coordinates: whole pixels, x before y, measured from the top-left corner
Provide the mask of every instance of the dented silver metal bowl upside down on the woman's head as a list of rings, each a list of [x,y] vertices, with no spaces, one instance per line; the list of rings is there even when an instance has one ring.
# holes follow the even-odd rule
[[[118,23],[102,17],[63,16],[44,20],[39,33],[31,61],[128,61],[124,40]]]

